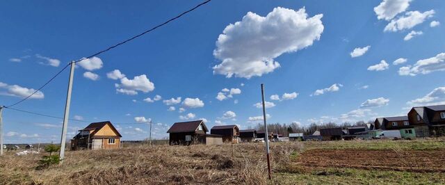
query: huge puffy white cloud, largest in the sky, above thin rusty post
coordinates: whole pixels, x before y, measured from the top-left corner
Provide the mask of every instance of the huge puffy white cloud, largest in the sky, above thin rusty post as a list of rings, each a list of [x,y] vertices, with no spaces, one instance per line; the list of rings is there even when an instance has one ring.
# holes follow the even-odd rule
[[[275,58],[320,39],[324,29],[321,17],[308,17],[305,8],[278,7],[266,17],[247,13],[219,35],[213,56],[222,62],[213,67],[213,73],[250,79],[273,72],[280,67]]]

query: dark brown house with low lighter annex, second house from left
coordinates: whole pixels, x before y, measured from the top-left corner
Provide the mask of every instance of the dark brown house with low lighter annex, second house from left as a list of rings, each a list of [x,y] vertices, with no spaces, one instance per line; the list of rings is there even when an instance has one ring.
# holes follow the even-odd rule
[[[223,138],[216,134],[207,134],[206,124],[202,120],[195,120],[190,122],[175,122],[175,124],[168,129],[170,134],[170,145],[220,145],[223,143]]]

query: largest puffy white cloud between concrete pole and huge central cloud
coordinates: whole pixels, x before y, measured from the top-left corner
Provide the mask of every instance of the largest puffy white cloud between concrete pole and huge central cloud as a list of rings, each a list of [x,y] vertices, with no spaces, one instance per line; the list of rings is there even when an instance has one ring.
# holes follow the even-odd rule
[[[115,83],[116,91],[127,95],[137,95],[138,90],[148,93],[154,90],[154,83],[152,83],[145,74],[136,76],[133,79],[123,77],[120,79],[120,84]]]

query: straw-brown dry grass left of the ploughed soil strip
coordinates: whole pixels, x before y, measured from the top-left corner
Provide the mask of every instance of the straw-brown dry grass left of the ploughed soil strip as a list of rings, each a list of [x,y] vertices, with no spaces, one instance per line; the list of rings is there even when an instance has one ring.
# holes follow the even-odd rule
[[[42,154],[0,158],[0,184],[267,184],[264,144],[133,146],[67,152],[63,165],[35,170]],[[273,169],[302,143],[272,143]]]

